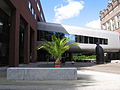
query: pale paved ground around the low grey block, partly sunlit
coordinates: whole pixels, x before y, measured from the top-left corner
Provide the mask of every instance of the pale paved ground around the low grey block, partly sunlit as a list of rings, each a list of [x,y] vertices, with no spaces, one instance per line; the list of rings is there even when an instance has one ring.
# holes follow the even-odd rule
[[[119,63],[78,69],[78,80],[68,81],[9,81],[1,75],[0,90],[120,90]]]

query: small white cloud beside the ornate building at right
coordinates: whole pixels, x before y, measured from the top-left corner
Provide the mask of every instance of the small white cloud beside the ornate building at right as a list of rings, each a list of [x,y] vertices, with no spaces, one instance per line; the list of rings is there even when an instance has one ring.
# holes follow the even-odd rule
[[[98,19],[98,20],[90,21],[85,26],[90,28],[100,29],[101,28],[100,20]]]

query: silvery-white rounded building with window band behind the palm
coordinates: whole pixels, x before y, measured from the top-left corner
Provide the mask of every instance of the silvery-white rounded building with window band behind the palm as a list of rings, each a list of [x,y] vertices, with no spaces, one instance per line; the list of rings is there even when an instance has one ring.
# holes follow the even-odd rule
[[[118,32],[46,22],[38,22],[38,32],[38,45],[43,44],[44,39],[52,41],[50,37],[53,34],[58,38],[69,38],[69,43],[79,43],[79,46],[72,46],[67,50],[62,55],[61,61],[71,61],[73,60],[72,56],[80,55],[80,53],[85,55],[95,54],[97,43],[104,49],[106,61],[120,59],[120,35]],[[37,60],[55,61],[44,49],[38,51]]]

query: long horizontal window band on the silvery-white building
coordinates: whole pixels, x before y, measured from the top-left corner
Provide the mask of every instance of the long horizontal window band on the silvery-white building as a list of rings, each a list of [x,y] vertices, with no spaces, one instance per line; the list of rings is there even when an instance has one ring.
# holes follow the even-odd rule
[[[67,37],[70,39],[70,42],[78,42],[78,43],[85,43],[85,44],[108,44],[108,39],[105,38],[98,38],[98,37],[90,37],[90,36],[82,36],[82,35],[73,35],[73,34],[66,34],[60,32],[48,32],[48,31],[37,31],[38,32],[38,41],[48,40],[51,41],[51,36],[53,34],[56,35],[57,38],[62,39],[63,37]]]

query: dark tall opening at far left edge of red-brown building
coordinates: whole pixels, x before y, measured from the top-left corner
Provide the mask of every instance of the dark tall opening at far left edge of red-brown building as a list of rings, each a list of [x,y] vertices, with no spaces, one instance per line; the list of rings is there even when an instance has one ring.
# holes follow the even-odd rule
[[[9,60],[9,16],[0,9],[0,66]]]

